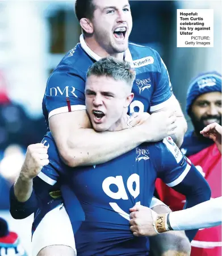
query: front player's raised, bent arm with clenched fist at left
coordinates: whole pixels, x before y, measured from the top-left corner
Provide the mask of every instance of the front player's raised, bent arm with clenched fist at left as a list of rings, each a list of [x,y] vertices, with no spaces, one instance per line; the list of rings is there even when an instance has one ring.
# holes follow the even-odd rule
[[[47,196],[50,199],[49,192],[56,181],[41,172],[45,169],[45,172],[50,173],[47,150],[41,143],[32,144],[27,148],[20,175],[10,190],[10,213],[16,219],[26,218],[36,212],[40,206],[39,200],[47,200]],[[52,182],[47,183],[45,180]]]

